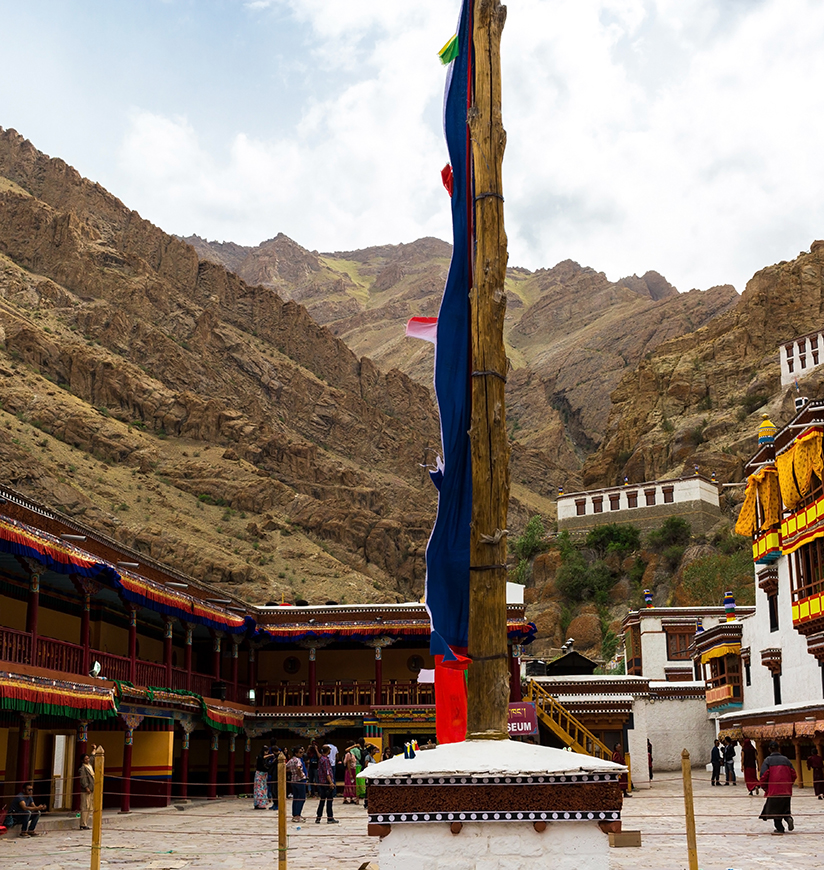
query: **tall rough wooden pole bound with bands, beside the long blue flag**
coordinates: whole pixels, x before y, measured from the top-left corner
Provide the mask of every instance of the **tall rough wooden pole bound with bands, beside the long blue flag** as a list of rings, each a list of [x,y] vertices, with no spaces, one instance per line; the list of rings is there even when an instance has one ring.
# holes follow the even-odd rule
[[[472,532],[469,575],[467,738],[505,740],[509,703],[506,636],[507,246],[501,180],[506,133],[501,118],[501,31],[506,7],[474,0],[475,90],[469,110],[475,196],[472,324]]]

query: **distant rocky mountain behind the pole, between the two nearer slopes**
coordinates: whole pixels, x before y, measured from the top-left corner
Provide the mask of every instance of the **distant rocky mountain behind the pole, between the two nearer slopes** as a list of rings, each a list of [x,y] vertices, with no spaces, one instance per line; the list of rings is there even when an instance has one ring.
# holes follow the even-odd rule
[[[246,281],[299,299],[358,355],[431,386],[433,349],[406,339],[413,316],[435,316],[450,247],[438,239],[319,254],[279,235],[256,247],[192,244]],[[609,281],[570,260],[530,272],[510,268],[505,324],[512,371],[508,418],[518,503],[554,516],[558,485],[581,485],[580,469],[603,440],[610,393],[661,342],[733,308],[732,287],[678,293],[656,272]]]

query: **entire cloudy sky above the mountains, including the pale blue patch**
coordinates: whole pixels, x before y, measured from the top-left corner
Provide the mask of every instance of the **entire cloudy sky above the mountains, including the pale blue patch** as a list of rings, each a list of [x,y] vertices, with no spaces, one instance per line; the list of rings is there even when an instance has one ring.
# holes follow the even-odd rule
[[[459,0],[0,0],[0,126],[172,233],[450,238]],[[824,3],[510,0],[510,264],[731,283],[824,238]]]

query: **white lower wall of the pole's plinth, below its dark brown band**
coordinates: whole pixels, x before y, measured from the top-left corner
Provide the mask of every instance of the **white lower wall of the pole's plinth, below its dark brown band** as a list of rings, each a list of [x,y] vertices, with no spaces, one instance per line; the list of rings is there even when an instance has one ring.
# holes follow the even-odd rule
[[[393,825],[378,848],[381,870],[608,870],[609,838],[597,822]]]

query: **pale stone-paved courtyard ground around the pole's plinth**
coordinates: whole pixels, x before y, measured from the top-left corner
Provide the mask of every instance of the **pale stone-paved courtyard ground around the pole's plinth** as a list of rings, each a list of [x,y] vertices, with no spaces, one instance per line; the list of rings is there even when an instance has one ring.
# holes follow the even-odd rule
[[[762,798],[749,797],[743,785],[711,788],[703,771],[694,772],[698,857],[701,870],[813,870],[824,867],[824,801],[810,789],[796,789],[796,830],[770,835],[772,825],[757,818]],[[315,825],[316,802],[308,801],[308,824],[289,823],[291,870],[376,868],[377,842],[366,836],[360,807],[336,801],[339,825]],[[641,848],[613,849],[610,870],[686,870],[684,802],[680,777],[658,774],[653,787],[625,802],[624,828],[640,829]],[[44,826],[36,840],[0,838],[2,870],[78,870],[89,866],[90,835]],[[60,824],[71,824],[68,820]],[[76,824],[76,822],[74,822]],[[174,807],[106,813],[103,866],[110,870],[274,870],[277,867],[275,813],[255,811],[250,800],[196,802]]]

